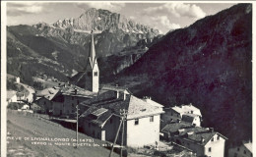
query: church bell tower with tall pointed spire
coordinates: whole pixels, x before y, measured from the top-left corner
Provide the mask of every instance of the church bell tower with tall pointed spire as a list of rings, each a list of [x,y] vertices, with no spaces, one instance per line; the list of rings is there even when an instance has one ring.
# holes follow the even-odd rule
[[[85,88],[87,90],[98,92],[99,88],[99,70],[96,62],[96,48],[94,40],[94,31],[91,33],[91,47],[90,54],[86,67],[86,83]]]

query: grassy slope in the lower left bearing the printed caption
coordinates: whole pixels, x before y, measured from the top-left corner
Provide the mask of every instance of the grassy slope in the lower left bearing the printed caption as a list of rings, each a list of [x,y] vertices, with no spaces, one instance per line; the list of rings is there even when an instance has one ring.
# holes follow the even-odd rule
[[[13,110],[9,110],[7,113],[7,133],[7,156],[10,157],[108,157],[110,152],[108,149],[102,147],[105,143],[104,141],[94,139],[84,133],[79,133],[79,138],[84,139],[84,141],[79,143],[83,145],[74,148],[73,143],[76,142],[71,140],[76,137],[75,131],[64,128],[44,118]],[[34,140],[35,137],[66,138],[69,139],[69,142],[45,142],[38,138]],[[117,157],[118,155],[114,153],[112,156]]]

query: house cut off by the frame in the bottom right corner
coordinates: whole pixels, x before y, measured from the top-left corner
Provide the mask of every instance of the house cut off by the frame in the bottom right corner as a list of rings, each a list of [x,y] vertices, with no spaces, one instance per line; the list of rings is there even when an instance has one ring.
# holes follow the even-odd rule
[[[243,141],[241,145],[231,146],[228,157],[252,157],[252,142]]]

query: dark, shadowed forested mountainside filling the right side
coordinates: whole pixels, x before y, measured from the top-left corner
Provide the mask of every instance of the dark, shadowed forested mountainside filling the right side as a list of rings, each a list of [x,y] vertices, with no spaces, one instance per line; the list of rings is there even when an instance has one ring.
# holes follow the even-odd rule
[[[238,4],[164,35],[113,84],[167,107],[192,102],[236,142],[252,139],[251,59],[252,5]]]

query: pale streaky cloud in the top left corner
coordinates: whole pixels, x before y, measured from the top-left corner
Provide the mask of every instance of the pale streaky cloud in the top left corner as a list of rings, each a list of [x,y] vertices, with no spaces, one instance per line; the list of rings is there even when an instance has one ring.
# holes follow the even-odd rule
[[[7,16],[18,17],[25,14],[39,14],[42,12],[46,12],[45,3],[37,3],[37,2],[7,3]]]

